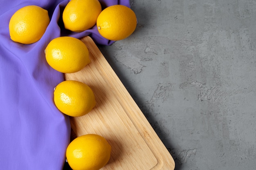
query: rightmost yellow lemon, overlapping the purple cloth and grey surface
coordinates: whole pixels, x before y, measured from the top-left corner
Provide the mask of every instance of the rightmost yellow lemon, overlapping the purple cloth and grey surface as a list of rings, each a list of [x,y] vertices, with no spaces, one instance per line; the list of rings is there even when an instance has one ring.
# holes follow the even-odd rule
[[[135,13],[124,5],[112,5],[104,9],[97,18],[98,31],[108,40],[123,40],[136,29]]]

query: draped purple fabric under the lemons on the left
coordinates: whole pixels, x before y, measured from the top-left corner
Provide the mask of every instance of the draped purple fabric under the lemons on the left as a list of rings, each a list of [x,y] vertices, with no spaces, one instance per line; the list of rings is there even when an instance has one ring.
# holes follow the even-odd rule
[[[45,60],[44,49],[59,36],[89,35],[97,44],[113,41],[101,37],[96,26],[81,33],[67,31],[61,13],[69,0],[0,0],[0,169],[61,170],[70,142],[69,117],[54,105],[54,87],[63,74]],[[129,0],[100,0],[102,7]],[[9,36],[13,13],[27,5],[48,10],[50,24],[34,44],[19,44]]]

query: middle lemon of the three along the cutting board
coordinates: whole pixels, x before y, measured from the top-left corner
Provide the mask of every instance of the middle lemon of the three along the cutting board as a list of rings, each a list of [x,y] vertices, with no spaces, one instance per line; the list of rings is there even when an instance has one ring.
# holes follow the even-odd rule
[[[56,86],[54,104],[62,113],[77,117],[89,113],[96,102],[94,93],[88,85],[66,80]]]

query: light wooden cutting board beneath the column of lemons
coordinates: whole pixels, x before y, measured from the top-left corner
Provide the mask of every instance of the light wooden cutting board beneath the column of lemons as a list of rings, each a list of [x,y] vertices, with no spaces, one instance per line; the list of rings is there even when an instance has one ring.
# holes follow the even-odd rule
[[[97,104],[87,115],[70,117],[74,135],[94,133],[107,139],[112,151],[102,170],[173,170],[170,153],[97,45],[88,36],[81,40],[88,47],[91,62],[64,76],[90,86]]]

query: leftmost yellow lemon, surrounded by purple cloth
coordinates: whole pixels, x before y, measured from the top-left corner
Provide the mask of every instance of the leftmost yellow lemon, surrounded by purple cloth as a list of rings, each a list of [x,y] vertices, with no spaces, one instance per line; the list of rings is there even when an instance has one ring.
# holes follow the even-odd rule
[[[22,7],[9,22],[11,40],[31,44],[40,40],[50,22],[48,11],[36,5]]]

